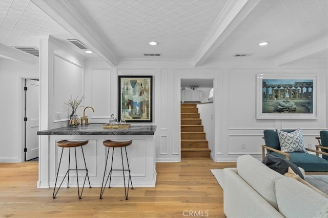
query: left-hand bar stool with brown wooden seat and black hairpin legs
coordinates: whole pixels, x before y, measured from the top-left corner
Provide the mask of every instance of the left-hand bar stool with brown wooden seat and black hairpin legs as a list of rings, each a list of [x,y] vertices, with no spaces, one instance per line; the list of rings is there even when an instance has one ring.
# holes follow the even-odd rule
[[[61,186],[61,184],[63,184],[66,176],[67,176],[67,188],[69,188],[69,179],[70,179],[70,171],[76,171],[76,182],[77,182],[77,195],[78,195],[78,199],[82,198],[82,193],[83,193],[83,189],[84,189],[84,185],[86,183],[86,179],[88,177],[88,182],[89,182],[89,188],[91,188],[91,184],[90,184],[90,179],[89,179],[89,174],[88,174],[88,168],[87,168],[87,164],[86,164],[86,159],[84,157],[84,152],[83,152],[83,146],[85,146],[86,144],[88,144],[89,140],[85,140],[85,141],[68,141],[68,140],[61,140],[57,142],[57,146],[62,148],[61,149],[61,155],[60,155],[60,160],[59,160],[59,165],[58,165],[58,171],[57,171],[57,176],[56,176],[56,182],[55,182],[55,186],[53,188],[53,195],[52,198],[56,198],[56,195],[59,191],[59,188]],[[84,165],[85,165],[85,169],[78,169],[77,168],[77,159],[76,159],[76,147],[81,147],[81,151],[82,151],[82,155],[83,155],[83,160],[84,160]],[[63,151],[64,148],[69,148],[69,155],[68,155],[68,169],[66,171],[66,174],[63,178],[63,180],[61,181],[59,187],[57,188],[56,191],[56,184],[57,184],[57,179],[58,179],[58,174],[59,174],[59,169],[60,169],[60,164],[61,164],[61,158],[63,157]],[[74,152],[75,152],[75,169],[71,169],[70,168],[70,161],[71,161],[71,148],[74,148]],[[83,182],[83,187],[80,193],[80,188],[78,185],[78,171],[86,171],[86,176],[84,178],[84,182]]]

